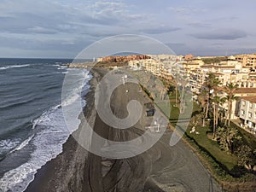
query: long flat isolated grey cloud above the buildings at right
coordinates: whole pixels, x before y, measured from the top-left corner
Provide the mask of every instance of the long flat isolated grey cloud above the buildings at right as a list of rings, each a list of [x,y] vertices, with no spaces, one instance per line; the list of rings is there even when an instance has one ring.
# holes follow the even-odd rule
[[[239,30],[223,30],[219,29],[216,32],[201,32],[197,34],[191,34],[194,38],[199,39],[212,39],[212,40],[236,40],[237,38],[246,38],[247,33]]]

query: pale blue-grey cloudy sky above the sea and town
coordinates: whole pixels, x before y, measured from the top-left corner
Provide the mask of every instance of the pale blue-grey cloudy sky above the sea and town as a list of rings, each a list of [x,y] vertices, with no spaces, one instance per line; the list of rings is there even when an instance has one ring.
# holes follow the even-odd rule
[[[73,58],[119,34],[177,55],[256,52],[254,0],[0,0],[0,57]]]

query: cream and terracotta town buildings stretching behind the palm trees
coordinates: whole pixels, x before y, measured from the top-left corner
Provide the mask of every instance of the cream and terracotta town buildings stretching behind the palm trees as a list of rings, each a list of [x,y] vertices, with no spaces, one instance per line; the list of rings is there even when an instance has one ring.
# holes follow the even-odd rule
[[[229,56],[224,61],[212,64],[205,64],[201,57],[194,55],[186,55],[185,57],[175,55],[149,56],[150,59],[129,61],[129,66],[147,70],[168,80],[173,79],[174,76],[177,77],[177,74],[186,76],[189,78],[189,86],[195,95],[201,93],[209,73],[213,73],[219,79],[221,86],[230,83],[238,84],[235,96],[239,99],[232,103],[231,119],[241,119],[243,127],[248,127],[256,133],[256,119],[254,118],[256,115],[254,100],[256,98],[256,60],[254,59],[256,54]],[[219,91],[218,95],[224,97],[227,96],[227,93],[223,90]],[[246,103],[246,105],[241,103]],[[247,107],[252,105],[253,108]],[[227,102],[221,104],[219,108],[227,113]]]

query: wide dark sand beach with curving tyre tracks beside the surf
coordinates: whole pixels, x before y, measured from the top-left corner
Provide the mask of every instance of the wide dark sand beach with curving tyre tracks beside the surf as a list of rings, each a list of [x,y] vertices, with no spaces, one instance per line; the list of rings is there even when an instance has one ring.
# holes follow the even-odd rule
[[[106,73],[93,69],[91,90],[86,95],[84,116],[94,131],[113,141],[125,141],[143,134],[143,118],[127,130],[113,129],[99,118],[94,106],[97,82]],[[129,94],[125,94],[129,90]],[[131,99],[150,102],[148,96],[139,91],[137,84],[125,84],[113,92],[111,107],[113,113],[124,118],[126,105]],[[143,109],[144,110],[144,109]],[[74,134],[82,135],[82,127]],[[152,148],[143,154],[128,159],[109,160],[90,154],[73,137],[63,145],[63,152],[43,166],[26,192],[161,192],[161,191],[221,191],[207,169],[196,155],[182,141],[169,145],[172,131],[167,129]]]

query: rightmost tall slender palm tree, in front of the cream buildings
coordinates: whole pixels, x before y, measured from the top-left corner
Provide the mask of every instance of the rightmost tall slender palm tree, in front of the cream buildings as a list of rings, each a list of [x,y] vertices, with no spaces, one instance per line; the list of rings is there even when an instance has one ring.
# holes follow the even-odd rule
[[[230,83],[224,87],[224,91],[227,94],[226,99],[228,101],[228,118],[225,120],[225,124],[230,126],[230,119],[232,113],[232,103],[233,101],[237,100],[237,96],[234,95],[235,91],[238,89],[238,84]]]

